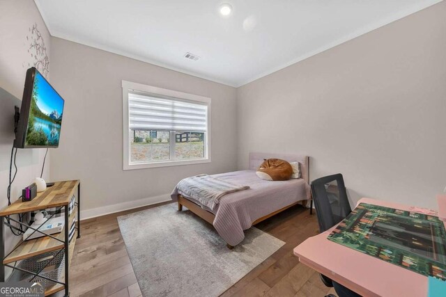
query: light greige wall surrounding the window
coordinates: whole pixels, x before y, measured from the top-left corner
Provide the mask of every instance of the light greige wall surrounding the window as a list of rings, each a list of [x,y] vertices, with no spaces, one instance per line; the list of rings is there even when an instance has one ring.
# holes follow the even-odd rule
[[[123,171],[122,80],[210,97],[212,162]],[[52,38],[52,84],[66,106],[51,177],[81,179],[82,209],[167,199],[184,177],[236,168],[235,88],[59,38]]]

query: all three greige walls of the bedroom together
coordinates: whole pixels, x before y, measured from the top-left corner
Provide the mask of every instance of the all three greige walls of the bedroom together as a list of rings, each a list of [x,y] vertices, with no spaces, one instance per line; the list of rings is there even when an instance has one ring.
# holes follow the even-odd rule
[[[433,196],[446,184],[445,2],[238,89],[49,39],[31,0],[1,1],[0,10],[7,12],[0,19],[4,100],[22,96],[24,72],[34,62],[29,28],[37,24],[48,53],[52,46],[50,81],[65,97],[66,113],[61,147],[49,154],[51,179],[82,179],[84,210],[167,198],[183,177],[246,168],[249,151],[309,154],[312,179],[344,173],[354,201],[436,207]],[[122,79],[211,97],[212,163],[123,171]],[[6,193],[13,134],[0,133]],[[17,157],[15,198],[39,174],[43,150]]]

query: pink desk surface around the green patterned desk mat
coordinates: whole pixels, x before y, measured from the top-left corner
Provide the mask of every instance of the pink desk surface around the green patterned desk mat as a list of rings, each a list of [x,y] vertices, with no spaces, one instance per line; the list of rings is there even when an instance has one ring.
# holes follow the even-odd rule
[[[362,198],[358,204],[361,202],[413,211],[403,204],[370,198]],[[425,276],[328,240],[332,229],[310,237],[294,249],[302,264],[362,296],[427,296]]]

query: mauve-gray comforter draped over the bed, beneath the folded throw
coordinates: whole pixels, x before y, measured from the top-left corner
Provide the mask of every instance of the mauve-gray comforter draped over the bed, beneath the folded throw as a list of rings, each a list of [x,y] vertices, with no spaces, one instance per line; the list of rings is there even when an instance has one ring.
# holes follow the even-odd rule
[[[254,170],[227,172],[213,176],[233,184],[247,185],[249,189],[224,195],[213,209],[204,207],[199,201],[187,197],[177,187],[171,193],[171,199],[176,201],[178,194],[181,194],[213,212],[215,230],[231,246],[236,246],[243,241],[245,238],[243,230],[249,229],[255,220],[295,202],[309,199],[309,185],[303,179],[270,182],[257,177]]]

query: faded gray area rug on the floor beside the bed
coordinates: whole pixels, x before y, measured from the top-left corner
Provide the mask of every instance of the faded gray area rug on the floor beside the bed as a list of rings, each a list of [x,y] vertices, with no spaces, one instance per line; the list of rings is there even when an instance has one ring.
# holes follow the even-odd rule
[[[285,243],[255,227],[229,250],[189,210],[167,204],[118,217],[139,287],[151,296],[219,296]]]

